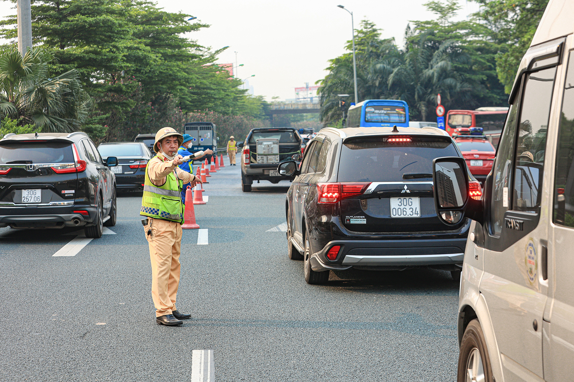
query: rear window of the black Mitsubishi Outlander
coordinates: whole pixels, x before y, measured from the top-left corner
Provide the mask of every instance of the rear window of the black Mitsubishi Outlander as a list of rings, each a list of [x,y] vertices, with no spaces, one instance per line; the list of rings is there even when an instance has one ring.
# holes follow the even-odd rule
[[[414,142],[365,139],[343,143],[338,181],[402,182],[405,173],[431,174],[435,158],[459,157],[451,142],[436,138],[412,139]]]

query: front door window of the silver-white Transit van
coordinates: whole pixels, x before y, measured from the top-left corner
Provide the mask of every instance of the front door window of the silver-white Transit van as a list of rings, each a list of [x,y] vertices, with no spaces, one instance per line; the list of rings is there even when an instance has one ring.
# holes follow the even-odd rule
[[[512,209],[536,212],[544,172],[546,134],[556,67],[526,77],[515,156]]]

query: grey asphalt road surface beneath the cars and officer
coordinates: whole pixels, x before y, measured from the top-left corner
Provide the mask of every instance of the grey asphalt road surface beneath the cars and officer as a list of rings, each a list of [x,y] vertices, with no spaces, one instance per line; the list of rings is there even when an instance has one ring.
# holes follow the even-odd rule
[[[0,380],[188,381],[194,349],[214,350],[218,382],[456,379],[449,272],[308,285],[286,255],[289,182],[243,193],[240,168],[205,185],[195,212],[207,231],[184,230],[177,307],[192,318],[181,327],[154,319],[141,194],[120,196],[115,227],[87,244],[75,229],[0,228]]]

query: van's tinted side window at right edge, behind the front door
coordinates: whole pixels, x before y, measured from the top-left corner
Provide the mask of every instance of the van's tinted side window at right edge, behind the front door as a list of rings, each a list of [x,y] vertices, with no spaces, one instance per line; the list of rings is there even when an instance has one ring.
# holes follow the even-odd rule
[[[554,174],[554,223],[574,227],[574,52],[564,86]]]

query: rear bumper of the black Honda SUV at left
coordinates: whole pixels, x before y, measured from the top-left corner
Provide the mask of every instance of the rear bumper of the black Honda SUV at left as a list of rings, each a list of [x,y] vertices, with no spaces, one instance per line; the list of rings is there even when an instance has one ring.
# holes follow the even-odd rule
[[[87,211],[88,216],[73,211]],[[0,228],[64,228],[91,224],[97,206],[22,206],[0,207]]]

